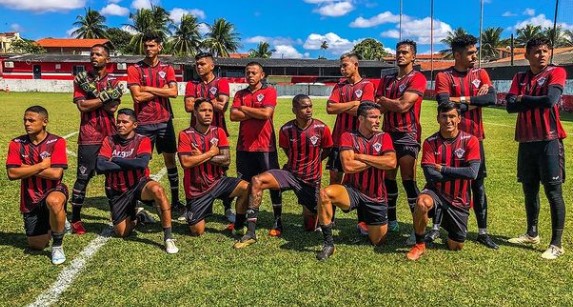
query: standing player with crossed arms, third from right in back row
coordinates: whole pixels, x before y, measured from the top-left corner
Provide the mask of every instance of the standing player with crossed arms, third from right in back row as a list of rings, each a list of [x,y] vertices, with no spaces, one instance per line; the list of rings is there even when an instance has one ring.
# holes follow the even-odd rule
[[[416,43],[411,40],[398,42],[398,73],[382,78],[376,92],[376,102],[382,106],[384,112],[382,130],[392,137],[402,185],[412,213],[419,193],[416,185],[416,159],[421,138],[420,109],[426,90],[426,77],[414,70],[415,60]],[[391,232],[400,230],[396,219],[397,171],[397,168],[387,171],[387,179],[384,180],[388,193],[388,230]]]

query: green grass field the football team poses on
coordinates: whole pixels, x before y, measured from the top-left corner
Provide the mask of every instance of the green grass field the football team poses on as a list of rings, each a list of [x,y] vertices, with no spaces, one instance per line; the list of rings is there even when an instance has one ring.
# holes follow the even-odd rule
[[[129,97],[124,101],[124,106],[131,106]],[[326,114],[324,99],[315,99],[314,103],[315,117],[332,127],[334,117]],[[41,104],[49,110],[50,132],[64,136],[77,131],[79,114],[71,103],[71,94],[0,93],[0,157],[3,161],[9,140],[24,132],[22,114],[32,104]],[[182,98],[173,101],[173,106],[175,128],[179,131],[186,127],[188,115]],[[280,99],[275,111],[275,128],[292,118],[290,109],[290,101]],[[424,137],[437,130],[435,114],[435,103],[424,102]],[[167,255],[162,250],[162,231],[158,224],[139,228],[136,235],[127,239],[109,239],[85,263],[84,270],[55,305],[572,305],[573,223],[567,219],[563,240],[567,254],[552,262],[541,259],[541,252],[547,247],[551,235],[549,208],[542,194],[542,243],[529,248],[506,242],[525,229],[521,186],[515,179],[515,116],[508,115],[503,109],[486,109],[484,121],[489,230],[501,246],[497,251],[475,243],[477,226],[472,214],[463,251],[450,252],[438,240],[420,261],[407,261],[407,248],[403,242],[412,228],[400,186],[400,235],[390,235],[388,244],[373,248],[365,239],[358,237],[355,213],[340,213],[334,231],[337,253],[326,262],[317,262],[314,255],[321,246],[322,236],[302,230],[301,208],[291,192],[283,194],[283,237],[267,235],[272,213],[268,194],[265,194],[258,223],[259,242],[252,247],[232,249],[233,239],[225,231],[222,206],[217,203],[216,214],[208,219],[207,233],[200,238],[188,236],[186,225],[174,224],[174,235],[180,248],[177,255]],[[571,133],[573,123],[564,121],[564,126]],[[237,124],[230,123],[233,147],[237,128]],[[68,139],[71,152],[77,149],[76,138]],[[570,139],[565,140],[565,146],[566,153],[573,152]],[[234,155],[232,157],[234,159]],[[68,158],[69,169],[64,181],[71,187],[75,179],[76,158],[72,155]],[[282,152],[280,159],[282,165],[285,159]],[[572,174],[571,164],[567,165],[569,174]],[[162,166],[162,158],[154,155],[151,172],[158,172]],[[234,174],[234,163],[231,167],[230,173]],[[421,174],[419,170],[420,177]],[[324,178],[323,183],[326,182],[327,178]],[[166,176],[161,183],[168,187]],[[423,183],[420,178],[420,188]],[[565,202],[569,205],[573,200],[571,181],[563,190]],[[54,266],[48,250],[42,253],[26,250],[18,201],[19,182],[10,182],[5,175],[0,176],[2,306],[27,305],[36,301],[43,291],[59,280],[59,274],[74,259],[83,257],[82,250],[109,227],[103,177],[99,176],[88,187],[83,210],[88,233],[67,235],[64,247],[68,261],[62,266]]]

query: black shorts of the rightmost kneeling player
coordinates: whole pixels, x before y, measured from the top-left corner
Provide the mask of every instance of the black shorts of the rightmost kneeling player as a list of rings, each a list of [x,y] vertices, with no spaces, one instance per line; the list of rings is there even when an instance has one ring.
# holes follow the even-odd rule
[[[423,189],[420,194],[426,194],[434,200],[434,207],[430,210],[429,217],[433,217],[439,207],[443,215],[441,226],[448,232],[448,238],[452,241],[463,243],[468,233],[469,208],[453,206],[430,189]]]

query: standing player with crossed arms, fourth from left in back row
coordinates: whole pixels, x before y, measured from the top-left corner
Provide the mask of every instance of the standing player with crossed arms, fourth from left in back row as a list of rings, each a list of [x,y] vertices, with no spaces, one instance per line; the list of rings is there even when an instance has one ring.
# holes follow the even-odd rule
[[[277,91],[262,83],[264,77],[260,63],[248,63],[245,78],[249,87],[235,94],[231,107],[231,120],[241,122],[237,140],[237,173],[247,182],[260,173],[279,168],[273,127]],[[276,237],[282,232],[282,196],[278,190],[270,192],[275,221],[269,235]]]

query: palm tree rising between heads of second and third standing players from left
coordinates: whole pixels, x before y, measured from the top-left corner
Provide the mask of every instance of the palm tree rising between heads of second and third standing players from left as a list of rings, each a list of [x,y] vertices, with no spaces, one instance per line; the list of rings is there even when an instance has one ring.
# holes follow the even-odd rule
[[[195,56],[201,45],[201,34],[197,17],[185,14],[181,23],[175,27],[175,35],[171,38],[171,51],[177,55]]]

